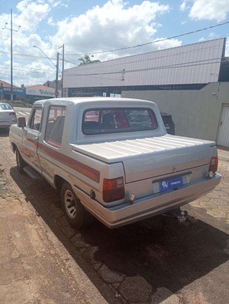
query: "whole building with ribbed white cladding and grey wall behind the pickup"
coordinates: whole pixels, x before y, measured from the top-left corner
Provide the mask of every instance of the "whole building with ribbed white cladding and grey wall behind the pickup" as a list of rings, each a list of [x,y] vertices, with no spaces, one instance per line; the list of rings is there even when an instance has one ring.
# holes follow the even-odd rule
[[[122,93],[155,101],[173,115],[178,135],[229,147],[225,48],[226,38],[219,38],[78,66],[64,71],[63,86],[69,97]]]

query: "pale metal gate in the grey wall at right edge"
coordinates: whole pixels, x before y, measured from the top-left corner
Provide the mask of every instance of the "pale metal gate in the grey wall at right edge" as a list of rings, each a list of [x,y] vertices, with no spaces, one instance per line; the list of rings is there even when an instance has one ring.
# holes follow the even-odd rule
[[[229,147],[229,105],[223,106],[217,145]]]

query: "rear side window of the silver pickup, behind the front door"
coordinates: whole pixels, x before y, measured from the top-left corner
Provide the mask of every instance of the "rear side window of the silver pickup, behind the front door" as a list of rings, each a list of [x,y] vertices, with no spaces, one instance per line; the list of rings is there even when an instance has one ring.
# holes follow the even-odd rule
[[[45,130],[45,141],[56,148],[59,148],[62,143],[65,115],[65,106],[50,106]]]

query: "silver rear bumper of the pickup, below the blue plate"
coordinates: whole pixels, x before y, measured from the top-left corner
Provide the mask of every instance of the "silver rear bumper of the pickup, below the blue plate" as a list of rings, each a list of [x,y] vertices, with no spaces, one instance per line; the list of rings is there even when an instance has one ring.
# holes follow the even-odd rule
[[[106,208],[100,203],[90,199],[77,188],[76,195],[82,204],[98,220],[108,228],[117,228],[137,222],[154,215],[162,214],[178,206],[195,201],[208,193],[219,184],[221,175],[212,178],[185,184],[178,190],[170,190],[136,200],[133,204],[125,203],[111,208]],[[76,189],[75,189],[76,190]],[[89,199],[88,199],[89,198]]]

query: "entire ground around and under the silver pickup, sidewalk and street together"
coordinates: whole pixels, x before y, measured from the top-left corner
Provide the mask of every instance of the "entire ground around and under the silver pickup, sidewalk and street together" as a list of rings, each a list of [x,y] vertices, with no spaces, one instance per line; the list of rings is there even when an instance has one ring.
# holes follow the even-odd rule
[[[18,173],[3,130],[0,164],[0,298],[15,289],[15,303],[228,302],[227,158],[221,184],[184,206],[186,224],[159,217],[110,230],[95,221],[80,232],[63,216],[58,191]]]

